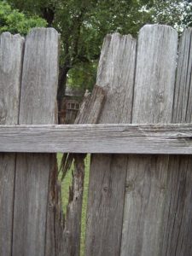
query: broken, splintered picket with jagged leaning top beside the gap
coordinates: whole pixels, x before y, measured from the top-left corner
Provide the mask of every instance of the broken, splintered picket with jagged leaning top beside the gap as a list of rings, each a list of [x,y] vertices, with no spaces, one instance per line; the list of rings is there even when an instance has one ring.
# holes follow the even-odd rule
[[[89,96],[84,96],[79,114],[75,119],[75,124],[95,124],[100,116],[103,102],[105,99],[104,90],[98,85]],[[73,127],[73,125],[71,125]],[[78,125],[76,125],[78,127]],[[73,141],[70,132],[70,141],[64,144],[70,144]],[[81,147],[81,145],[79,145]],[[60,150],[67,152],[67,150]],[[69,151],[70,152],[70,151]],[[86,153],[86,152],[84,152]],[[84,192],[84,157],[86,154],[63,154],[62,172],[65,175],[74,159],[74,172],[72,188],[69,191],[69,201],[67,205],[67,216],[65,219],[65,228],[63,232],[63,243],[61,255],[80,255],[81,239],[81,212]]]

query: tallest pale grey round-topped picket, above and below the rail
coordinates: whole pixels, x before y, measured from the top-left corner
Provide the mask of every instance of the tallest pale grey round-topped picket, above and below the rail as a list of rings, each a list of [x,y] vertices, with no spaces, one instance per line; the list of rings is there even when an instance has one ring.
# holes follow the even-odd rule
[[[139,32],[132,123],[170,123],[177,32],[147,25]],[[161,255],[169,156],[129,156],[121,255]]]

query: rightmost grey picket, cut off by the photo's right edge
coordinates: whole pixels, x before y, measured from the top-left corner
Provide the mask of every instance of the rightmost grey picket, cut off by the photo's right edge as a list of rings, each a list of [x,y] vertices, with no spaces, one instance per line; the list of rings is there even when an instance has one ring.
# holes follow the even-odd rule
[[[192,29],[178,50],[173,123],[192,122]],[[162,255],[192,255],[192,157],[170,156]]]

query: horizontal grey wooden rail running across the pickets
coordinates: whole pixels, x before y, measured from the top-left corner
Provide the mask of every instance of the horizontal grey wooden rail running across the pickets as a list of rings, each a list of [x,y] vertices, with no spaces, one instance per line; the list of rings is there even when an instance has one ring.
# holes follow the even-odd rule
[[[192,154],[192,124],[0,125],[0,152]]]

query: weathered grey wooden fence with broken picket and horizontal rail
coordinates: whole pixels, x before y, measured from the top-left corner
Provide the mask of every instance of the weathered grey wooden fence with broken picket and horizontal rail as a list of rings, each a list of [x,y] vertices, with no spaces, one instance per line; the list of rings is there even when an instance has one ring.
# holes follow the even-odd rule
[[[0,37],[0,255],[79,255],[92,153],[85,255],[191,256],[192,29],[108,35],[76,125],[55,125],[58,42],[52,28]],[[59,151],[75,159],[65,219]]]

